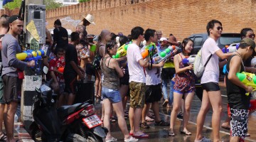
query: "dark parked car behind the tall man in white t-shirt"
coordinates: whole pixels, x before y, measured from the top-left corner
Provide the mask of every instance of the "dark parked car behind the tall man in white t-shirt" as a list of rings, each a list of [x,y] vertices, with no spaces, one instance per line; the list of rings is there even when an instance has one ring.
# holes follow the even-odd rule
[[[188,38],[191,38],[193,40],[193,54],[198,53],[198,51],[202,48],[203,43],[208,38],[207,33],[196,33],[193,35],[188,36]],[[221,33],[220,38],[218,39],[218,47],[220,49],[225,48],[225,45],[230,45],[231,43],[238,43],[240,42],[240,33]]]

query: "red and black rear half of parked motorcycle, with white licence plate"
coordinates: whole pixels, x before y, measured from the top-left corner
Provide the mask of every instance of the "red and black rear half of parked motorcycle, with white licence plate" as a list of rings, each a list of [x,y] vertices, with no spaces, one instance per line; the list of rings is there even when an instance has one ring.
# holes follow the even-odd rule
[[[73,111],[72,114],[69,112]],[[68,125],[72,133],[78,133],[90,142],[103,142],[106,138],[107,128],[102,127],[100,117],[95,114],[92,100],[73,106],[63,106],[57,109],[58,116],[63,125]]]

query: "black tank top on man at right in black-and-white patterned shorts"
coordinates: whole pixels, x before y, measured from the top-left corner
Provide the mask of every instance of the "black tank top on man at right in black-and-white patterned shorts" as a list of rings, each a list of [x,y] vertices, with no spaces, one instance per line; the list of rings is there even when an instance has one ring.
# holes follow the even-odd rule
[[[226,87],[227,87],[227,96],[228,96],[228,104],[230,105],[230,108],[233,109],[248,109],[249,104],[250,104],[250,95],[246,96],[245,89],[238,87],[236,84],[233,84],[233,82],[230,82],[228,80],[228,71],[230,70],[230,60],[234,57],[235,55],[230,56],[228,58],[228,63],[227,63],[227,72],[225,74],[225,82],[226,82]],[[241,70],[240,72],[244,72],[245,67],[241,63]]]

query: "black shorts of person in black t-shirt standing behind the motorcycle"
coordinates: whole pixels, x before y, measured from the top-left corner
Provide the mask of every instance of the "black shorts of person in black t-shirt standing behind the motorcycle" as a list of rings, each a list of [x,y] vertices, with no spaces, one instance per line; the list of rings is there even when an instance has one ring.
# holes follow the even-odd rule
[[[77,76],[72,73],[64,75],[65,80],[65,89],[64,92],[67,92],[68,94],[76,94],[77,92]]]

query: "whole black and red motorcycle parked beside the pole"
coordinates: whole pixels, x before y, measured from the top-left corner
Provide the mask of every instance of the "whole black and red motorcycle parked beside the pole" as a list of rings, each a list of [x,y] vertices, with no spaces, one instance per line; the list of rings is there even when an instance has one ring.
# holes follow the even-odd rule
[[[30,126],[33,140],[102,142],[108,131],[101,127],[102,121],[95,114],[92,100],[55,109],[49,86],[50,82],[43,84],[33,97],[34,121]]]

